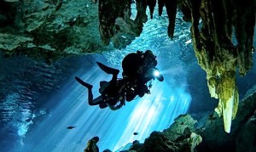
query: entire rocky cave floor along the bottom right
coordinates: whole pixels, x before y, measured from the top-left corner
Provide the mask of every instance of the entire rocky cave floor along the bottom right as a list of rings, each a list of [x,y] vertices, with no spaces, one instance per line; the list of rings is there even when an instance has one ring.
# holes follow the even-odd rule
[[[143,144],[125,152],[170,151],[255,151],[256,85],[240,101],[231,132],[224,132],[224,121],[214,112],[200,115],[179,115],[171,127],[163,132],[154,131]],[[131,146],[132,147],[132,146]]]

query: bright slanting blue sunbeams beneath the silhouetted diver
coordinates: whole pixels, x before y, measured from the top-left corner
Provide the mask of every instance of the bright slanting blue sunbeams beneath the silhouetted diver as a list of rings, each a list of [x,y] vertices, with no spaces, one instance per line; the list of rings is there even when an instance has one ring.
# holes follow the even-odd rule
[[[96,66],[95,63],[91,64]],[[95,97],[99,95],[99,82],[111,79],[97,67],[86,72],[79,70],[75,75],[95,84]],[[187,112],[191,100],[185,88],[157,80],[153,82],[151,94],[126,102],[117,111],[90,106],[87,95],[87,89],[72,78],[49,101],[50,104],[55,104],[59,100],[61,104],[55,106],[51,116],[40,123],[26,142],[40,140],[40,144],[33,145],[33,149],[37,151],[81,151],[90,138],[98,136],[101,150],[114,151],[134,140],[143,142],[150,132],[169,127],[177,115]],[[68,126],[75,128],[67,130]],[[138,134],[133,135],[134,132]]]

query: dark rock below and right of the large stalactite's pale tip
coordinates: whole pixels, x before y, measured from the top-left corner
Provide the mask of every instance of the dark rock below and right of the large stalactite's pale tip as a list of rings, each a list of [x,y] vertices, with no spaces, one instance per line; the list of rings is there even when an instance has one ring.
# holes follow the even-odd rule
[[[251,151],[255,150],[255,110],[256,85],[248,91],[247,97],[242,99],[237,116],[232,123],[232,132],[224,132],[224,121],[217,113],[198,120],[201,127],[196,132],[201,135],[202,142],[197,151]]]

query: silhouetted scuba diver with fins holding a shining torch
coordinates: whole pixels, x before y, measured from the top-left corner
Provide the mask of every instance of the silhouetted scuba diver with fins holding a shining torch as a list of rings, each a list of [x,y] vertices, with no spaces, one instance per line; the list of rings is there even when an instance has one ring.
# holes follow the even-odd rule
[[[119,70],[110,68],[96,62],[99,67],[108,74],[112,74],[110,82],[100,82],[100,95],[93,99],[92,85],[83,82],[79,77],[75,79],[88,88],[88,100],[90,105],[99,105],[101,109],[109,107],[111,110],[119,110],[125,101],[131,101],[138,95],[143,97],[145,93],[150,93],[149,88],[151,83],[147,86],[147,82],[157,78],[160,82],[164,77],[160,75],[159,70],[155,68],[157,65],[156,57],[152,51],[147,50],[145,53],[137,51],[137,53],[129,53],[122,61],[123,79],[118,79]],[[154,73],[154,74],[153,74]],[[149,88],[148,88],[149,87]]]

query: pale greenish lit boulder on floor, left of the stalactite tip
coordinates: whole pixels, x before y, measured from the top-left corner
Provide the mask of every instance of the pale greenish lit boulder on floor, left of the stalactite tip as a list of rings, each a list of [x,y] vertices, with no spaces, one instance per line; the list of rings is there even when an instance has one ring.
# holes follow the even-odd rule
[[[201,136],[195,133],[195,122],[190,115],[179,115],[171,127],[163,132],[152,132],[144,144],[135,143],[124,152],[194,151],[202,140]]]

